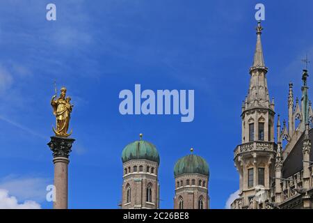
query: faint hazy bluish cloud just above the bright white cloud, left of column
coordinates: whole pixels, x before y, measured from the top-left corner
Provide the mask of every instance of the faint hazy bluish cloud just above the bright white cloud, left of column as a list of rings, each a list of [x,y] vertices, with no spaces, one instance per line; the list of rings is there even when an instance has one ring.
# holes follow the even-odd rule
[[[45,201],[46,187],[51,184],[48,178],[25,178],[7,176],[0,180],[0,188],[14,194],[20,201]]]

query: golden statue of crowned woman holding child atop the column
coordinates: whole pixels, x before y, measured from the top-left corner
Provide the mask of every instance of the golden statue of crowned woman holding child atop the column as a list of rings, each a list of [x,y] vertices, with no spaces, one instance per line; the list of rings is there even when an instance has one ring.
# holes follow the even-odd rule
[[[68,126],[70,124],[70,114],[73,106],[70,103],[71,98],[66,96],[66,89],[61,89],[60,97],[56,99],[56,94],[51,98],[51,106],[54,109],[54,116],[56,116],[56,129],[52,127],[57,137],[69,137],[72,130],[67,134]]]

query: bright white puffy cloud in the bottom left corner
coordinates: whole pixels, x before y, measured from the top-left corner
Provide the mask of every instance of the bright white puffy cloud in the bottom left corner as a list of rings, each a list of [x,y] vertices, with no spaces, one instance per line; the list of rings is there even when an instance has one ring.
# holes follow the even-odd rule
[[[40,204],[35,201],[18,203],[16,197],[10,196],[8,190],[0,189],[0,209],[40,209]]]

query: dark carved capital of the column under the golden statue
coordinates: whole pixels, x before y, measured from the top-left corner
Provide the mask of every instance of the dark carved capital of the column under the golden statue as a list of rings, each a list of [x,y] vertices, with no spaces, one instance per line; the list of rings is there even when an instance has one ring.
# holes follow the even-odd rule
[[[72,151],[72,144],[75,139],[65,137],[50,137],[51,141],[47,144],[53,152],[54,159],[63,157],[68,159]]]

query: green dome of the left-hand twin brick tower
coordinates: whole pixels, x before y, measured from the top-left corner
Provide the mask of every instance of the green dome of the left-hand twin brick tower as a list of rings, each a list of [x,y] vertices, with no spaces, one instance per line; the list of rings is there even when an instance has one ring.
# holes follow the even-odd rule
[[[160,157],[157,148],[154,144],[142,140],[143,134],[140,134],[141,139],[134,141],[122,151],[122,162],[129,160],[150,160],[160,164]]]

